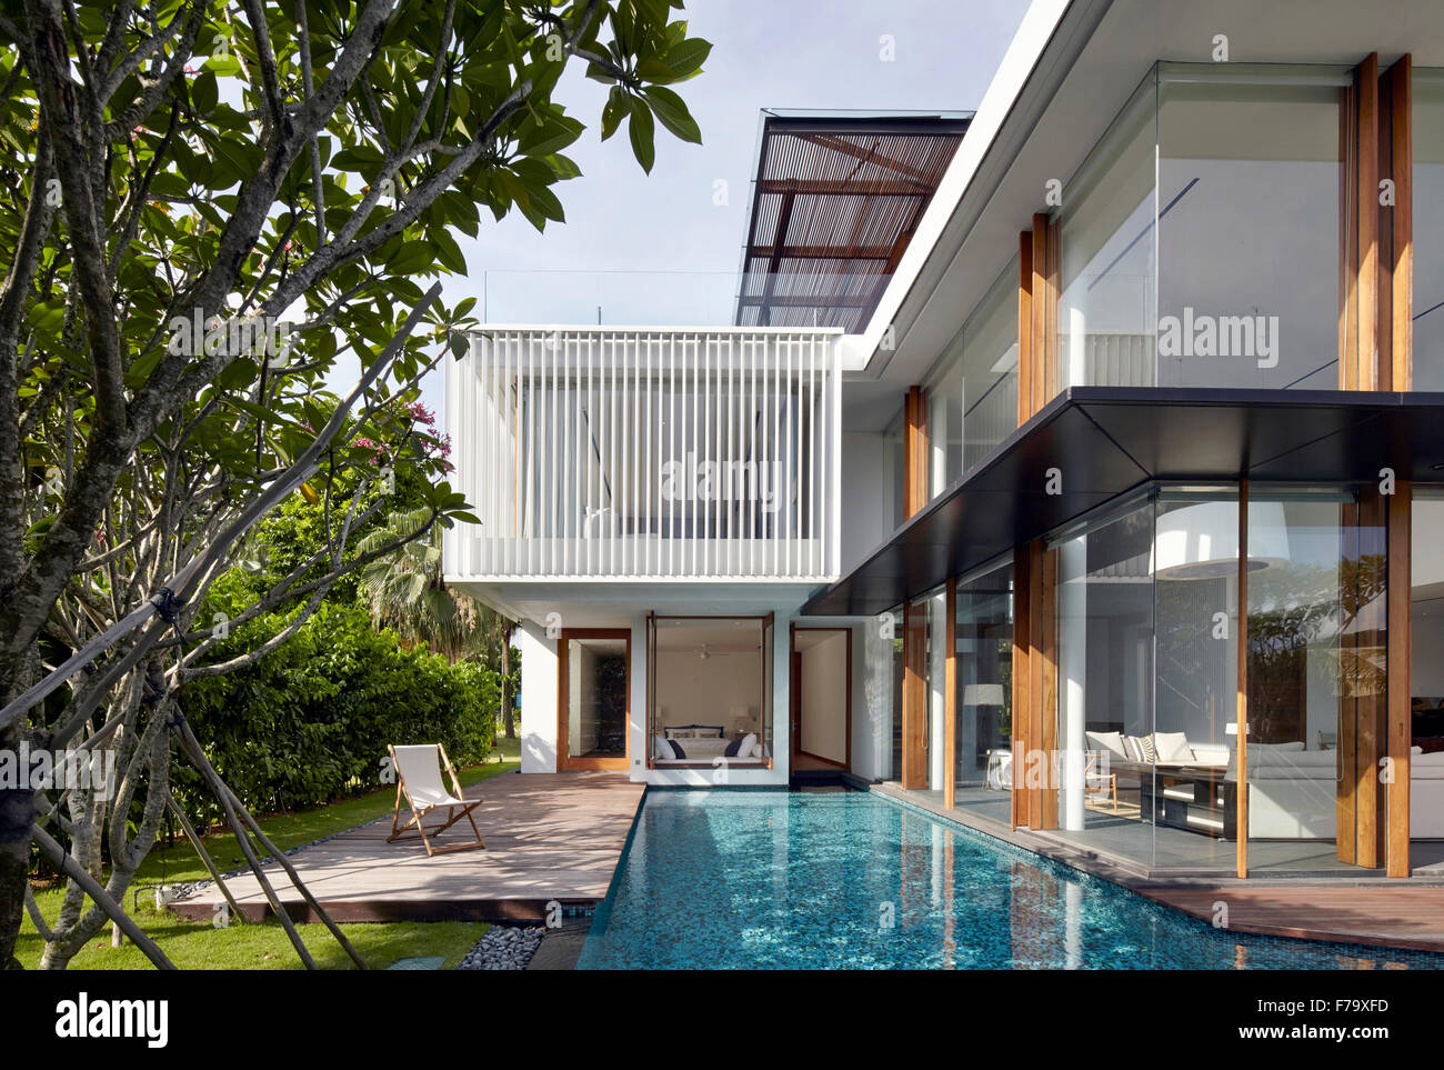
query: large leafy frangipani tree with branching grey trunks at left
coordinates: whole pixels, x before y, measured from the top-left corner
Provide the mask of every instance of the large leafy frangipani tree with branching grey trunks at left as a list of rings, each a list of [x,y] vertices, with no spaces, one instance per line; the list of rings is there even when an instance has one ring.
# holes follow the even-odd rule
[[[484,211],[563,218],[553,188],[578,176],[563,152],[583,131],[553,98],[567,64],[611,85],[602,136],[627,121],[644,168],[654,120],[699,140],[667,85],[709,46],[673,7],[23,0],[0,14],[0,749],[118,755],[108,790],[0,784],[0,962],[16,965],[32,840],[72,879],[48,928],[62,966],[155,840],[172,739],[205,761],[178,689],[287,638],[217,661],[215,622],[193,619],[260,517],[290,494],[325,501],[325,549],[253,608],[296,619],[342,572],[468,518],[393,419],[475,326],[469,300],[448,308],[427,280],[465,271],[456,235],[478,235]],[[341,360],[362,371],[332,403],[319,388]],[[425,510],[357,552],[394,465],[429,477]],[[360,477],[345,498],[339,472]]]

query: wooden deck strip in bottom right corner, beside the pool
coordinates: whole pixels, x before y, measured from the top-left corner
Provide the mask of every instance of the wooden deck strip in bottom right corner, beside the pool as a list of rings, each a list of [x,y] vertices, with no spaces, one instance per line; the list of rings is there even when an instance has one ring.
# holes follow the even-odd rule
[[[1227,927],[1242,933],[1444,952],[1444,887],[1437,885],[1281,882],[1214,888],[1135,885],[1135,891],[1210,923],[1213,904],[1226,902]]]

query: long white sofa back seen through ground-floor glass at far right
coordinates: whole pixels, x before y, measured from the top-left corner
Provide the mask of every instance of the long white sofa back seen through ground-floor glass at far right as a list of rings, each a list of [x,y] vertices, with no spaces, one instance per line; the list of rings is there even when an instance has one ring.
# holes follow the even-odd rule
[[[1226,780],[1238,780],[1235,757]],[[1251,838],[1333,839],[1337,807],[1337,751],[1249,744]],[[1409,838],[1444,839],[1444,752],[1409,755]]]

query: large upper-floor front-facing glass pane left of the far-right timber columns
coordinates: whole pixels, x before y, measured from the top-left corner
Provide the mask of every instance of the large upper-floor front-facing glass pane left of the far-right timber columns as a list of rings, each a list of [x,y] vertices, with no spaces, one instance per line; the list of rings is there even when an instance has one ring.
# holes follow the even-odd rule
[[[1337,388],[1350,79],[1346,68],[1160,65],[1161,386]]]

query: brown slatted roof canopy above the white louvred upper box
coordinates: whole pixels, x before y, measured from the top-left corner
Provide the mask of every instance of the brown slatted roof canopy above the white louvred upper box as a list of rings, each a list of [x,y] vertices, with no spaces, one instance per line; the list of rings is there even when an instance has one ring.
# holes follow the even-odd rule
[[[738,326],[861,331],[970,117],[797,117],[762,124]]]

